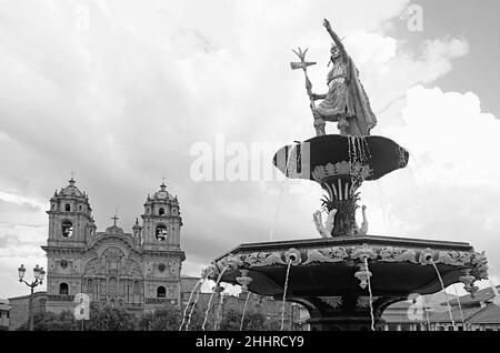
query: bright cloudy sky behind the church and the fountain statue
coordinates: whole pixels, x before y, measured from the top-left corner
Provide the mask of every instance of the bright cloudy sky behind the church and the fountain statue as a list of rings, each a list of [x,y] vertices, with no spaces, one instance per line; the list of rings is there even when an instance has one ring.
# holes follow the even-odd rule
[[[369,233],[470,242],[500,269],[499,11],[497,0],[1,0],[0,297],[27,293],[19,264],[46,264],[44,211],[72,170],[99,230],[117,205],[130,230],[166,176],[184,274],[243,242],[317,238],[318,185],[256,180],[249,164],[198,181],[192,165],[200,145],[214,171],[252,145],[314,135],[289,62],[309,47],[313,90],[326,92],[323,18],[360,70],[372,134],[411,153],[361,188]],[[269,165],[272,153],[244,160]]]

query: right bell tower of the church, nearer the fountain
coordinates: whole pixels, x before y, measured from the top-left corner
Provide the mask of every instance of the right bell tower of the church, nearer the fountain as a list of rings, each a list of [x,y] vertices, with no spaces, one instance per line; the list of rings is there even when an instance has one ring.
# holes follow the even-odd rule
[[[148,195],[141,218],[144,250],[180,249],[182,219],[179,201],[167,191],[164,182],[152,196]]]

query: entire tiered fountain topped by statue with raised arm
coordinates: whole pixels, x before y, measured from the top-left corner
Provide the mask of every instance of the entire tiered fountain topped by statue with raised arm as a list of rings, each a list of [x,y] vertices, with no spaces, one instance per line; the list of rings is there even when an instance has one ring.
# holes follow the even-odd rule
[[[473,294],[474,281],[487,279],[487,260],[468,243],[368,235],[367,220],[357,224],[359,186],[404,168],[409,153],[388,138],[370,135],[377,119],[358,70],[330,23],[323,26],[336,43],[328,93],[312,93],[307,68],[314,62],[306,61],[307,50],[294,51],[300,62],[291,64],[304,72],[317,137],[283,147],[273,159],[287,178],[317,182],[326,191],[322,211],[313,216],[321,238],[241,244],[216,259],[208,273],[218,282],[302,304],[311,330],[378,330],[384,309],[410,294],[458,282]],[[318,107],[317,100],[322,100]],[[340,134],[326,134],[326,121],[338,122]]]

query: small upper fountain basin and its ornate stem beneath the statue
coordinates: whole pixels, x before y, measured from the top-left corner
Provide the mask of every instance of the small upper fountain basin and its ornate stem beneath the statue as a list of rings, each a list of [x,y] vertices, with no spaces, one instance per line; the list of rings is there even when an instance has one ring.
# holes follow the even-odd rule
[[[323,208],[337,210],[332,236],[360,235],[356,223],[358,189],[404,168],[409,153],[383,137],[320,135],[281,148],[274,165],[291,179],[316,181],[327,192]]]

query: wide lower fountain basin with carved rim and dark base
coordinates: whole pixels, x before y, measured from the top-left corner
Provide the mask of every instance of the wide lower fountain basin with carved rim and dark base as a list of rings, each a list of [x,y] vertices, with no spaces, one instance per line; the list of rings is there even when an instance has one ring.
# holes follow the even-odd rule
[[[436,269],[444,286],[463,282],[472,294],[488,270],[468,243],[364,235],[242,244],[212,263],[210,278],[282,299],[289,263],[286,299],[309,310],[316,330],[367,327],[370,286],[380,323],[391,303],[442,290]]]

